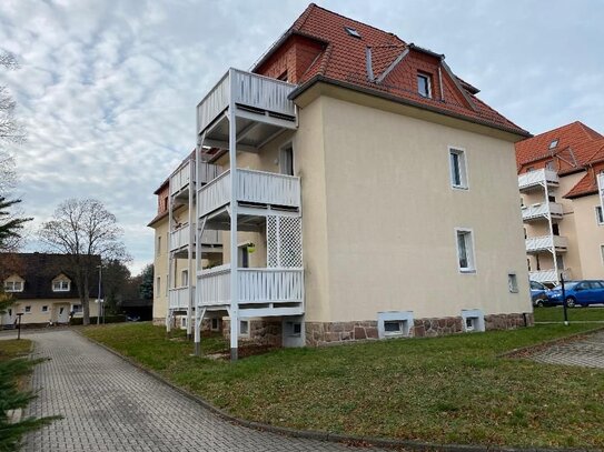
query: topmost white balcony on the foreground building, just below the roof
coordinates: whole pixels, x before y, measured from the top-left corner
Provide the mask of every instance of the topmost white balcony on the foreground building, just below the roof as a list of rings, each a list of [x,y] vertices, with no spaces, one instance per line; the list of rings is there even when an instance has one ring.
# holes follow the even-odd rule
[[[288,96],[295,84],[257,73],[229,69],[197,106],[197,131],[204,145],[228,149],[228,117],[231,96],[237,117],[237,147],[259,148],[280,132],[295,129],[296,106]],[[232,94],[231,94],[232,93]]]

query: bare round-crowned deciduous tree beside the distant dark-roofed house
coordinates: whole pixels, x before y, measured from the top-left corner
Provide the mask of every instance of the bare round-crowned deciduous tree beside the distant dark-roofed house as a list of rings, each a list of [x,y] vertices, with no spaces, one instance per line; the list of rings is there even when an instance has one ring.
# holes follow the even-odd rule
[[[90,279],[97,271],[99,258],[129,259],[121,234],[116,215],[93,199],[68,199],[40,229],[42,242],[52,251],[70,257],[70,270],[76,275],[82,303],[83,324],[90,323]]]

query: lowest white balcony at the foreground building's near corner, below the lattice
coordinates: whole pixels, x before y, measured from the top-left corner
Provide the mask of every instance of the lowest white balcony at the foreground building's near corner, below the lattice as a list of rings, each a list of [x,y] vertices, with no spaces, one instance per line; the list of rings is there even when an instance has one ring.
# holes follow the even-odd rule
[[[241,317],[304,313],[304,269],[237,269],[237,278]],[[197,305],[229,305],[230,265],[199,272],[197,288]]]

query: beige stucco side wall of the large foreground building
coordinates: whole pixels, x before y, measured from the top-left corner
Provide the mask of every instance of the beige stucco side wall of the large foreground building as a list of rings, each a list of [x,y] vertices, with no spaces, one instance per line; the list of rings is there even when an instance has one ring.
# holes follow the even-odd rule
[[[323,128],[307,133],[323,130],[329,308],[307,292],[307,321],[531,311],[511,142],[327,97],[318,107]],[[466,151],[469,190],[450,187],[449,145]],[[474,231],[475,274],[458,271],[456,227]],[[305,241],[305,258],[315,251]]]

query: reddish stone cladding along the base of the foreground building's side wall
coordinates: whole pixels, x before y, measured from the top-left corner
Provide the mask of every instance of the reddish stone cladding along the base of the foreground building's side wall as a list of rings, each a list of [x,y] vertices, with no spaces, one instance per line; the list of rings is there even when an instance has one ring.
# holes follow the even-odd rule
[[[486,330],[512,330],[525,325],[534,325],[533,313],[485,315]],[[463,331],[464,324],[461,317],[416,319],[409,330],[409,337],[434,338]],[[316,346],[366,339],[378,339],[377,321],[306,322],[307,345]]]

